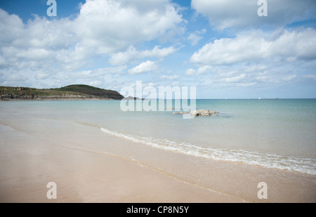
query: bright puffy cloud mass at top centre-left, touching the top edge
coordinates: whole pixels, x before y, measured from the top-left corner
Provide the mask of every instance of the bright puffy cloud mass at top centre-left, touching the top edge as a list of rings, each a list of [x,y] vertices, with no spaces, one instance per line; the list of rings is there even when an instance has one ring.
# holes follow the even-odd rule
[[[178,31],[183,18],[168,1],[86,1],[74,22],[79,47],[88,52],[114,53],[131,44],[150,41]],[[122,4],[123,3],[123,4]]]

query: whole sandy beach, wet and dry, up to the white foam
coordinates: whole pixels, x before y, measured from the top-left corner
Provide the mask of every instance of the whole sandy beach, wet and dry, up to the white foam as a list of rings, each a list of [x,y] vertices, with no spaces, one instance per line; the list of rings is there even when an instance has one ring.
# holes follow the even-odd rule
[[[316,201],[313,176],[170,152],[93,124],[8,117],[0,137],[0,202]],[[258,199],[262,181],[268,199]]]

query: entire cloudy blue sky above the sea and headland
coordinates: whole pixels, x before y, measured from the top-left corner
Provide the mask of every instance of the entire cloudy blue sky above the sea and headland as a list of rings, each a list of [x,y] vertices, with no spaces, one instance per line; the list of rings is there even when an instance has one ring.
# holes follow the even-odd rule
[[[0,0],[0,86],[316,98],[316,1]]]

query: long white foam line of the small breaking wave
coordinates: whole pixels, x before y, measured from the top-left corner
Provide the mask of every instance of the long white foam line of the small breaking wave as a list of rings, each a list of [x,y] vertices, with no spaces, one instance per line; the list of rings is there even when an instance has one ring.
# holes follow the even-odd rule
[[[142,143],[157,147],[164,150],[172,150],[183,154],[190,154],[196,157],[206,157],[209,159],[241,162],[249,165],[263,166],[266,168],[275,168],[288,171],[295,171],[299,173],[306,173],[316,175],[316,160],[298,157],[285,157],[277,154],[266,154],[261,152],[249,152],[246,150],[232,150],[225,148],[201,147],[191,143],[180,143],[176,141],[145,137],[126,135],[117,131],[101,128],[101,131],[112,136],[131,140],[135,143]]]

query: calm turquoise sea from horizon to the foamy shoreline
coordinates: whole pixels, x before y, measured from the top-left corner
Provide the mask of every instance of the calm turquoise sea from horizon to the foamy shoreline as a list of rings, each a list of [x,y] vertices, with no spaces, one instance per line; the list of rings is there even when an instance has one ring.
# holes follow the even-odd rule
[[[315,99],[197,100],[196,106],[219,114],[183,119],[174,111],[123,112],[119,100],[25,101],[1,102],[0,119],[27,115],[93,124],[165,150],[316,175]]]

